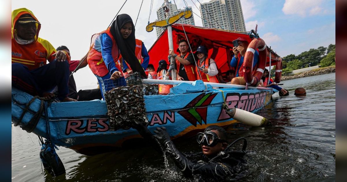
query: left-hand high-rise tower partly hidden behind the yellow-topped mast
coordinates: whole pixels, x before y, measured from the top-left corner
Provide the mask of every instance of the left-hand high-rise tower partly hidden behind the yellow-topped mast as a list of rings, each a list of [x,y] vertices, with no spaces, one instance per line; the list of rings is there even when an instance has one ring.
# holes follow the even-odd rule
[[[158,17],[157,20],[155,21],[160,21],[165,19],[165,12],[163,10],[164,4],[158,9],[156,10],[156,16]],[[179,12],[184,11],[185,8],[183,9],[177,9],[175,4],[172,4],[171,1],[169,2],[169,9],[170,9],[170,13],[171,16],[177,15]],[[188,6],[189,10],[192,10],[192,7]],[[181,18],[180,20],[178,20],[176,23],[182,23],[182,24],[188,24],[188,25],[195,25],[194,23],[194,17],[192,16],[189,19],[185,19],[185,18]],[[156,37],[159,37],[160,34],[165,31],[165,28],[160,28],[160,27],[155,27],[155,31],[156,31]]]

